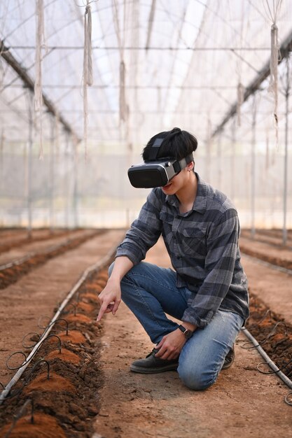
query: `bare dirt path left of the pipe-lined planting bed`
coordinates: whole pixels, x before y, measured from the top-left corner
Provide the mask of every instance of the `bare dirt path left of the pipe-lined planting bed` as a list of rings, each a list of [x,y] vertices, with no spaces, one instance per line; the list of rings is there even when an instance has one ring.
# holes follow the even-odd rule
[[[22,337],[42,331],[38,327],[39,317],[44,320],[52,317],[55,306],[62,302],[83,271],[114,249],[123,235],[123,231],[113,230],[96,236],[0,290],[1,383],[8,383],[14,374],[6,368],[6,359],[14,351],[22,350]]]

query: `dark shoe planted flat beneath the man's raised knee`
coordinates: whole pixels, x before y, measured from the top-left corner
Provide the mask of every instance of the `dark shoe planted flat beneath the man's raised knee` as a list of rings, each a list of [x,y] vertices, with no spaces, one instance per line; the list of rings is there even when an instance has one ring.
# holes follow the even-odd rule
[[[135,360],[130,365],[130,370],[141,374],[155,374],[177,369],[179,366],[179,358],[172,360],[155,358],[157,352],[158,349],[153,348],[151,353],[149,353],[145,359]]]

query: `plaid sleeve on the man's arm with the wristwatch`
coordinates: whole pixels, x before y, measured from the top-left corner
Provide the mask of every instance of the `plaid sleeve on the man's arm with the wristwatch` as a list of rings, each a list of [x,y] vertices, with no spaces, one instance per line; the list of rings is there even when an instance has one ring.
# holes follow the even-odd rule
[[[205,271],[207,276],[199,290],[189,299],[183,321],[204,328],[228,294],[235,269],[239,222],[235,209],[221,214],[207,236]]]

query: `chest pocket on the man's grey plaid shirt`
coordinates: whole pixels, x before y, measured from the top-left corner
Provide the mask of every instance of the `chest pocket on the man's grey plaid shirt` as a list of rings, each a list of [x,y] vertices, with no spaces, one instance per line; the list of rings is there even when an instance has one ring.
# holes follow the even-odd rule
[[[183,254],[204,256],[207,254],[206,229],[185,228],[181,233],[181,250]]]

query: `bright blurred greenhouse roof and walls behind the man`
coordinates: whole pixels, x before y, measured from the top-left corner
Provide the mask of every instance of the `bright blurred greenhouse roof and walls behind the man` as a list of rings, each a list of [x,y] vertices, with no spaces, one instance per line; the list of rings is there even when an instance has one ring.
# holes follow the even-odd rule
[[[242,227],[292,227],[292,2],[1,0],[1,227],[127,227],[131,164],[186,129]]]

